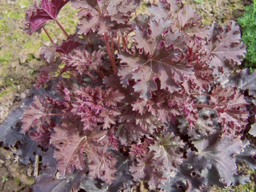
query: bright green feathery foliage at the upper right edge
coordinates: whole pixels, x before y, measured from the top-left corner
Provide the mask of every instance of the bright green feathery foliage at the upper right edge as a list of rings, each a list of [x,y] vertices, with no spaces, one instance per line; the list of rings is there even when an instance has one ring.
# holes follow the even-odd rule
[[[247,53],[245,56],[245,67],[256,68],[256,0],[253,4],[245,7],[245,13],[238,18],[238,23],[242,28],[242,41],[246,44]]]

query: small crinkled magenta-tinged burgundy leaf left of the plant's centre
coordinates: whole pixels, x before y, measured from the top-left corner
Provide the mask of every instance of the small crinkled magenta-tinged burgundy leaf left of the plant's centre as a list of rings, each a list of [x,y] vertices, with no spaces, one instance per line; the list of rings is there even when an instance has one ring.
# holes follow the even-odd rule
[[[103,128],[110,128],[115,124],[115,116],[121,115],[117,103],[124,98],[118,90],[111,88],[104,91],[101,87],[92,89],[90,86],[80,87],[75,91],[76,102],[73,102],[74,114],[81,117],[84,122],[84,130],[92,130],[97,123],[103,123]]]

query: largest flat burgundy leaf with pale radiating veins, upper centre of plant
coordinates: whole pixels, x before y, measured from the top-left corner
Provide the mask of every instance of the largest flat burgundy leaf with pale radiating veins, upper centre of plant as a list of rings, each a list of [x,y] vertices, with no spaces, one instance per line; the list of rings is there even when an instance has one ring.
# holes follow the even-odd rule
[[[160,88],[168,89],[170,93],[181,89],[181,84],[194,74],[191,78],[196,84],[200,82],[207,87],[211,81],[210,78],[204,79],[200,68],[195,68],[195,65],[207,64],[207,53],[199,47],[200,40],[184,37],[183,32],[171,26],[170,20],[164,19],[158,22],[150,20],[147,28],[137,26],[133,38],[138,49],[134,49],[134,53],[118,55],[125,63],[118,72],[121,83],[127,86],[129,79],[133,78],[136,83],[134,90],[141,93],[143,99],[151,98],[151,92],[157,90],[157,79]],[[192,41],[199,41],[195,42],[198,46],[195,47]]]

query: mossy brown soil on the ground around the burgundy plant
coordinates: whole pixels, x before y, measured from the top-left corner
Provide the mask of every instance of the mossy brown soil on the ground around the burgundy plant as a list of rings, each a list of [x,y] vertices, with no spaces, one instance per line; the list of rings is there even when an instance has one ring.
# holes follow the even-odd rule
[[[228,23],[236,20],[251,1],[241,0],[184,0],[203,15],[204,24]],[[11,110],[18,107],[38,77],[40,47],[50,42],[46,34],[23,32],[24,14],[33,0],[0,0],[0,124]],[[75,10],[69,5],[59,14],[64,28],[75,30],[78,20]],[[72,19],[73,18],[73,19]],[[55,23],[47,24],[47,30],[55,43],[65,39]],[[72,30],[68,30],[72,34]],[[15,149],[0,145],[0,191],[30,191],[35,179],[32,164],[22,165],[17,161]]]

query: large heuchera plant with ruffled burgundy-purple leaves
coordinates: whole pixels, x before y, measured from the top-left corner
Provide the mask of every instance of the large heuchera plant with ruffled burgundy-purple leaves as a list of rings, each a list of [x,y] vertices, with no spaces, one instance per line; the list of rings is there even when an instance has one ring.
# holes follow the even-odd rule
[[[57,20],[68,2],[42,0],[26,13],[29,35],[54,20],[67,36],[55,44],[47,33],[36,86],[54,85],[55,97],[36,96],[22,119],[23,132],[49,149],[35,190],[48,182],[49,191],[131,191],[143,181],[208,191],[241,181],[247,103],[219,83],[246,53],[236,22],[204,26],[179,0],[137,16],[140,1],[73,0],[80,24],[68,35]]]

